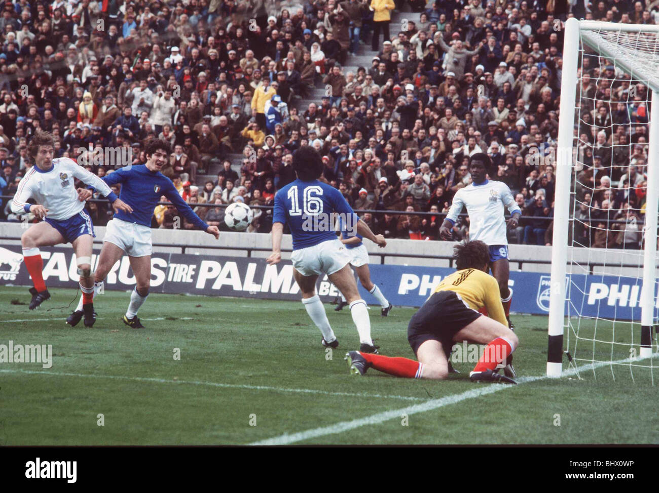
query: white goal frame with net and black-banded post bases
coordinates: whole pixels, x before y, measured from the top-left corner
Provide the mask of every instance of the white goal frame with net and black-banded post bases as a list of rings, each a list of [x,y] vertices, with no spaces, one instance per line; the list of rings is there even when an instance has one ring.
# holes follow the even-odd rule
[[[568,19],[559,110],[547,375],[654,383],[659,26]]]

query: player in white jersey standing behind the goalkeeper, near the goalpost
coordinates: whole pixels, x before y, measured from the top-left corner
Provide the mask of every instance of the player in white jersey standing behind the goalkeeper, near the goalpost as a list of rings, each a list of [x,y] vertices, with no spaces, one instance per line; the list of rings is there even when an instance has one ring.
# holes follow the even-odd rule
[[[492,160],[485,153],[476,153],[469,158],[469,173],[472,183],[461,188],[453,196],[451,209],[440,228],[442,240],[451,240],[451,228],[457,221],[463,207],[469,214],[469,241],[480,240],[490,249],[490,269],[499,284],[501,303],[505,318],[510,328],[510,302],[513,292],[508,288],[510,267],[508,265],[508,240],[506,226],[517,228],[522,211],[515,202],[508,186],[503,182],[487,179],[487,172],[492,167]],[[511,219],[505,221],[504,211],[507,207]],[[506,375],[514,378],[512,365],[506,367]]]

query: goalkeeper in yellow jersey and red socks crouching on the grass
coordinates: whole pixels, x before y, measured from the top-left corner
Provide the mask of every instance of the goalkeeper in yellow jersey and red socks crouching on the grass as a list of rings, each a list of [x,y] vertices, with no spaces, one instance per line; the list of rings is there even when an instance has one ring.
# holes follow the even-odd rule
[[[449,374],[453,344],[467,341],[488,344],[469,374],[471,380],[516,383],[497,373],[519,340],[508,328],[498,282],[486,273],[490,264],[488,246],[472,241],[455,246],[454,251],[457,271],[438,284],[407,327],[407,340],[418,361],[349,351],[345,359],[351,373],[364,375],[372,367],[394,376],[442,380]],[[489,317],[479,313],[483,307]]]

